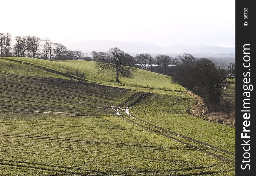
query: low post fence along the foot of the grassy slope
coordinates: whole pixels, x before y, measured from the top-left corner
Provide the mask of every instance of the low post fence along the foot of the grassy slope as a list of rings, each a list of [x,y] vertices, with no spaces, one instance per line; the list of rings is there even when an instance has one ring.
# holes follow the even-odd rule
[[[115,85],[115,86],[129,86],[129,87],[142,87],[148,89],[159,89],[159,90],[169,90],[169,91],[179,91],[179,92],[186,92],[187,89],[185,88],[170,88],[170,87],[159,87],[159,86],[150,86],[150,85],[143,85],[143,84],[126,84],[126,83],[119,83],[119,82],[101,82],[101,81],[87,81],[91,84],[103,84],[103,85]]]

